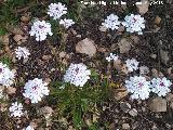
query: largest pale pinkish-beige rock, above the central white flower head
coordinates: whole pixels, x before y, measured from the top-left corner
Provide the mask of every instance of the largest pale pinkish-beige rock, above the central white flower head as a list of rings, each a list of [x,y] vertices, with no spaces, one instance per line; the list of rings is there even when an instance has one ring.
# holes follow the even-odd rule
[[[96,47],[93,40],[85,38],[76,44],[76,52],[88,54],[90,57],[96,53]]]

